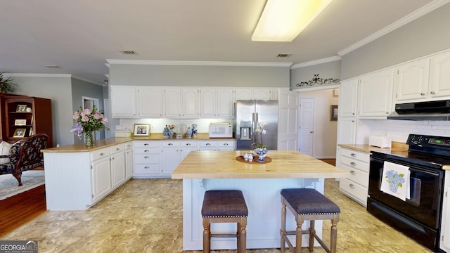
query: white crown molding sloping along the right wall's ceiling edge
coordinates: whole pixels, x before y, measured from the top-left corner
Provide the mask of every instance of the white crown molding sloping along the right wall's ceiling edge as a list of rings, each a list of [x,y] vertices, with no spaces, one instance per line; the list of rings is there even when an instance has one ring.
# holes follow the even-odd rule
[[[378,32],[375,32],[374,34],[369,35],[368,37],[361,39],[360,41],[356,42],[352,46],[349,46],[345,48],[342,51],[338,52],[339,56],[345,56],[347,53],[350,53],[357,48],[360,48],[361,46],[364,46],[371,41],[374,41],[375,39],[378,39],[380,37],[383,37],[385,34],[388,34],[399,27],[402,27],[409,22],[416,20],[420,18],[421,16],[430,13],[431,11],[434,11],[435,9],[443,6],[444,4],[449,3],[450,0],[435,0],[432,1],[430,4],[427,4],[426,6],[423,6],[422,8],[419,8],[418,10],[414,11],[413,13],[410,13],[409,15],[404,16],[404,18],[401,18],[397,20],[396,22],[393,22],[392,24],[388,25],[387,27],[384,27],[382,30],[379,30]]]

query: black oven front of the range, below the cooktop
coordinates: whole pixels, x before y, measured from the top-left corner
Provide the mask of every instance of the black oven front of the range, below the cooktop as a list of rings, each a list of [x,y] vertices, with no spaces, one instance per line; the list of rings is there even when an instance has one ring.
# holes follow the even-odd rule
[[[384,162],[410,167],[410,199],[380,190]],[[444,171],[371,155],[367,210],[430,249],[439,245]]]

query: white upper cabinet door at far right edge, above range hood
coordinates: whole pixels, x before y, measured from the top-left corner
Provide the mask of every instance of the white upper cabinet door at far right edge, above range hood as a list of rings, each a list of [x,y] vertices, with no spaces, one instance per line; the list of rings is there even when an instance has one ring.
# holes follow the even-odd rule
[[[450,52],[431,58],[430,96],[450,96]]]

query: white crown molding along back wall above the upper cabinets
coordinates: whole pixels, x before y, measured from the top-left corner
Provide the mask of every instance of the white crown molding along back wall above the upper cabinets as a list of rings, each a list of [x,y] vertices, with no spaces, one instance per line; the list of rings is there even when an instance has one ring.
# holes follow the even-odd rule
[[[106,59],[109,64],[130,65],[184,65],[184,66],[231,66],[231,67],[290,67],[293,63],[222,62],[193,60],[119,60]]]

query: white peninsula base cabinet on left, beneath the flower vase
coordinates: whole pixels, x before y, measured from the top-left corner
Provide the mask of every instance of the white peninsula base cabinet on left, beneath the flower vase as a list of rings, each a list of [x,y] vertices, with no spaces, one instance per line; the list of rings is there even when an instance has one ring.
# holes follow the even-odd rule
[[[125,183],[129,143],[89,152],[44,153],[47,209],[88,209]]]

